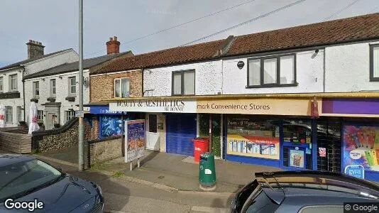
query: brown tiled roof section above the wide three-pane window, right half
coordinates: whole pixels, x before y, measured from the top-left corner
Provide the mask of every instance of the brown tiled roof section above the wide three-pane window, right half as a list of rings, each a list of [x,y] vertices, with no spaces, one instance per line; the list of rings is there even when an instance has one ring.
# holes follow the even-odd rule
[[[226,55],[331,45],[379,38],[379,13],[236,36]]]

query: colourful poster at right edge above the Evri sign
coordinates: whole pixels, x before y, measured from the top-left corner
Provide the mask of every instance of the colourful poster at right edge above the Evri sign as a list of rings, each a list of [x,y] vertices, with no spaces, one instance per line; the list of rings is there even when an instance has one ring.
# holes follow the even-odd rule
[[[379,126],[344,126],[343,168],[379,171]],[[349,170],[350,171],[350,170]],[[347,174],[351,175],[351,171]]]

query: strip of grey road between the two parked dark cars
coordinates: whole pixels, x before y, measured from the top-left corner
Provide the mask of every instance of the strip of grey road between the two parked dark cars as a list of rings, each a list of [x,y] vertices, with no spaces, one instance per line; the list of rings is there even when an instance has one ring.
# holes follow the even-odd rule
[[[105,197],[106,212],[227,212],[230,196],[202,192],[167,192],[154,187],[111,178],[92,171],[49,162],[65,173],[97,182]]]

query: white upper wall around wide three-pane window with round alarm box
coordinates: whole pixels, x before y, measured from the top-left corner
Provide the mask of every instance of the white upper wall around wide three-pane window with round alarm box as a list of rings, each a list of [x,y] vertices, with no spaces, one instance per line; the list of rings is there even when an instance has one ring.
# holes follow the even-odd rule
[[[267,55],[269,56],[269,55]],[[251,57],[253,58],[253,57]],[[242,60],[245,65],[240,70],[237,62]],[[322,92],[324,75],[324,50],[317,55],[312,51],[296,53],[297,83],[295,87],[246,88],[248,58],[224,60],[223,94],[277,94]]]

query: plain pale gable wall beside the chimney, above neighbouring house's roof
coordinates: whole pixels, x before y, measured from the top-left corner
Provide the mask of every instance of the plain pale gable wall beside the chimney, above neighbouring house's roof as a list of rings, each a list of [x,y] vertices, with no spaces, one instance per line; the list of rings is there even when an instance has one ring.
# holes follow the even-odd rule
[[[47,58],[41,60],[35,60],[25,67],[25,75],[31,75],[35,72],[40,72],[42,70],[47,70],[50,67],[56,67],[64,63],[75,62],[79,60],[79,55],[75,53],[74,50],[67,50],[65,52],[50,55]]]

